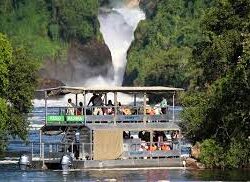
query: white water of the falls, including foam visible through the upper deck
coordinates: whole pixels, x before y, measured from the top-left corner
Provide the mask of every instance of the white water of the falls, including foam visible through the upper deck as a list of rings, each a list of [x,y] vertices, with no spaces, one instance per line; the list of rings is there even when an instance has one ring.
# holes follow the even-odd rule
[[[134,31],[140,20],[145,19],[144,12],[135,3],[137,0],[127,0],[128,4],[119,3],[119,0],[113,2],[115,2],[112,3],[113,8],[100,11],[98,19],[100,22],[100,31],[111,52],[114,78],[113,80],[101,76],[90,78],[84,83],[84,86],[87,87],[120,86],[122,84],[127,63],[127,51],[134,39]],[[48,104],[49,106],[62,106],[67,103],[68,98],[71,98],[75,102],[74,97],[74,95],[67,95],[61,99],[50,100]],[[113,100],[113,96],[109,96],[109,98]],[[119,98],[123,104],[133,102],[128,95],[123,94]],[[79,98],[79,100],[82,101],[83,98]],[[44,101],[35,99],[33,102],[36,107],[44,106]]]

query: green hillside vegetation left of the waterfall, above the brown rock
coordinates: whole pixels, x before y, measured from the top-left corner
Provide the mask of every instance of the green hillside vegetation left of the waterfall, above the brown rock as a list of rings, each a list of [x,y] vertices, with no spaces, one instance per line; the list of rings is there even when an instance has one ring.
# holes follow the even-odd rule
[[[98,0],[2,0],[0,32],[40,58],[66,56],[71,41],[101,39]]]

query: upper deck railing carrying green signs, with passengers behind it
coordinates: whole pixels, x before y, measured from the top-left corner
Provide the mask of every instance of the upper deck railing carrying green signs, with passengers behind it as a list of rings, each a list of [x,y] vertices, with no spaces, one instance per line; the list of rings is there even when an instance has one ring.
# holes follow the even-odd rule
[[[52,109],[53,108],[53,109]],[[160,106],[91,106],[48,107],[47,124],[82,124],[114,122],[169,122],[179,121],[179,113],[169,108],[164,113]],[[53,112],[49,112],[53,110]]]

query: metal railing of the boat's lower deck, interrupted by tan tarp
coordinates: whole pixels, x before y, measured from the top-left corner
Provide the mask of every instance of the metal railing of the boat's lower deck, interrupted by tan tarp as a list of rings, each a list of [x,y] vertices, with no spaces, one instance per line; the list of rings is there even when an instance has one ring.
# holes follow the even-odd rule
[[[26,152],[33,160],[60,160],[68,154],[74,160],[94,160],[93,143],[29,143],[30,151]],[[112,145],[112,144],[110,144]],[[123,152],[117,159],[152,159],[173,158],[181,156],[182,146],[178,142],[140,142],[124,143]]]

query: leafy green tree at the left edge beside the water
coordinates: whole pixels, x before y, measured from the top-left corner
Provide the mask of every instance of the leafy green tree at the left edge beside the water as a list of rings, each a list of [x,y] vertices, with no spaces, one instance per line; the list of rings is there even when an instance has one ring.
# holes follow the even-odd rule
[[[24,48],[13,48],[0,33],[0,151],[10,136],[26,138],[27,113],[37,82],[36,62]]]

